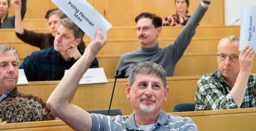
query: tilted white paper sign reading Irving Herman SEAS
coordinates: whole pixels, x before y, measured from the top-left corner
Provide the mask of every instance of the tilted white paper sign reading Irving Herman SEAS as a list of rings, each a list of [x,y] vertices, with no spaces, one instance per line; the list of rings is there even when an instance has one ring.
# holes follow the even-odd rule
[[[96,38],[96,30],[101,28],[104,35],[112,25],[86,0],[52,0],[91,39]]]

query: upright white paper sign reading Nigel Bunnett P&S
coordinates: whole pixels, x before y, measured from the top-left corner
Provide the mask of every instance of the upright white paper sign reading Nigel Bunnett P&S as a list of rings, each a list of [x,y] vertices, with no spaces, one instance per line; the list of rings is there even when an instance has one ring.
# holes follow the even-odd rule
[[[241,14],[239,50],[246,45],[256,48],[256,6],[243,5]]]

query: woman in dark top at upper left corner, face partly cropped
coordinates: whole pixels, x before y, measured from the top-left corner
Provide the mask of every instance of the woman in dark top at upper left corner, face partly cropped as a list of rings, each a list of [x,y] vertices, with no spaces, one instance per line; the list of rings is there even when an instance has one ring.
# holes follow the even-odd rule
[[[27,0],[21,0],[21,20],[23,20],[26,13]],[[14,28],[15,15],[8,17],[10,8],[10,0],[0,0],[0,27],[1,28]]]

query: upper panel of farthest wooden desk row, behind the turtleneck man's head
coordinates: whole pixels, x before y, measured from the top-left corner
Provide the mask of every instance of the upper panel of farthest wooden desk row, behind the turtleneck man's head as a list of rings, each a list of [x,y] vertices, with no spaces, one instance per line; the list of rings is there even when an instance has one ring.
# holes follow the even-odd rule
[[[108,31],[108,39],[137,39],[136,27],[112,27]],[[35,32],[48,33],[49,28],[27,28]],[[159,38],[177,38],[183,27],[162,27],[162,32]],[[0,29],[0,40],[19,40],[14,29]],[[216,38],[225,37],[227,35],[240,34],[240,26],[199,26],[196,29],[194,38]],[[87,35],[84,40],[90,41],[91,38]]]

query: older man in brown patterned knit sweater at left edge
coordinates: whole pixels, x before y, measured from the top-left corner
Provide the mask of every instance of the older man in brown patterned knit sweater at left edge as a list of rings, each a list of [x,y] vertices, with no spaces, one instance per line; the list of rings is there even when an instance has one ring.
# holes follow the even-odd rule
[[[19,59],[7,45],[0,46],[0,118],[1,122],[34,122],[54,120],[44,101],[17,90]]]

